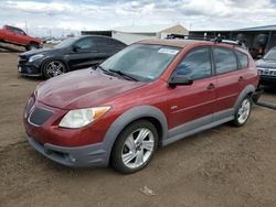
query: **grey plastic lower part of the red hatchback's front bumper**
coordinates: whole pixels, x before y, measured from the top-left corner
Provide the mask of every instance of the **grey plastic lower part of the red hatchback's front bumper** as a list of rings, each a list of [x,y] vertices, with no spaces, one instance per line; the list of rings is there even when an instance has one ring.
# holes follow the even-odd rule
[[[102,143],[85,146],[57,146],[40,143],[28,137],[29,143],[47,159],[71,167],[107,166],[108,155]]]

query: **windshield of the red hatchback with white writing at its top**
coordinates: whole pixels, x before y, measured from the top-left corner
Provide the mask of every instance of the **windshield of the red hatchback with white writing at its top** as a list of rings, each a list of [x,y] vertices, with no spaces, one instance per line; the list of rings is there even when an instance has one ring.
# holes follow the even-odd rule
[[[180,48],[162,45],[135,44],[115,54],[102,68],[120,72],[139,81],[157,79],[177,56]]]

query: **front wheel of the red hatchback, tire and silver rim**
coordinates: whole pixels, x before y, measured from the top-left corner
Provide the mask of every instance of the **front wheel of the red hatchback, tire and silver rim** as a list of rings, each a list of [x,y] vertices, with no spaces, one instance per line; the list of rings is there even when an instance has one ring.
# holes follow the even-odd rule
[[[120,173],[136,173],[148,165],[157,146],[156,127],[147,120],[132,122],[118,135],[113,148],[110,164]]]

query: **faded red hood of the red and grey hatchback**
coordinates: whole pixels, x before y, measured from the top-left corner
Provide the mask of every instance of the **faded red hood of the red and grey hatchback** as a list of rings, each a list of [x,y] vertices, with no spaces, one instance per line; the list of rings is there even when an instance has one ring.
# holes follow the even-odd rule
[[[35,97],[60,109],[97,107],[145,83],[119,79],[93,69],[72,72],[40,85]]]

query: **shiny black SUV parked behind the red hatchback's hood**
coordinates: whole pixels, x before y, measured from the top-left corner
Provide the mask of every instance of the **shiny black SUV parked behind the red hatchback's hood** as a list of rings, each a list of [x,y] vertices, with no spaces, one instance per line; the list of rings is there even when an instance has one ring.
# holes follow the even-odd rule
[[[53,48],[20,54],[18,70],[23,76],[52,78],[67,72],[97,66],[124,47],[126,44],[108,36],[70,37]]]

